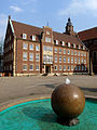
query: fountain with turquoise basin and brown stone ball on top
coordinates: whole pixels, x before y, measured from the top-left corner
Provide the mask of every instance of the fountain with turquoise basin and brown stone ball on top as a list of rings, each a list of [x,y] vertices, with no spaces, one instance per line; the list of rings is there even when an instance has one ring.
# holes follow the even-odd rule
[[[56,88],[52,99],[25,101],[1,110],[0,130],[97,130],[97,99],[85,100],[69,83]]]

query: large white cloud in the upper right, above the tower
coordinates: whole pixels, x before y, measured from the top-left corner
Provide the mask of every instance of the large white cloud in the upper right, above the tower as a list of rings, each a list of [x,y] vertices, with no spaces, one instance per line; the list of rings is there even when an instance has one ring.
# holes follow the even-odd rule
[[[97,0],[72,0],[68,8],[59,10],[59,15],[87,14],[97,15]]]

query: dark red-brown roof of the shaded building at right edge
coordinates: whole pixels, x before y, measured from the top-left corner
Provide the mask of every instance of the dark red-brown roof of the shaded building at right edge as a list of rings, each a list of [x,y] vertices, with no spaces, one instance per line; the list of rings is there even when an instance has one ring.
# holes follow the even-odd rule
[[[82,41],[95,39],[95,38],[97,38],[97,27],[94,27],[94,28],[91,28],[87,30],[83,30],[83,31],[79,31],[78,35]]]

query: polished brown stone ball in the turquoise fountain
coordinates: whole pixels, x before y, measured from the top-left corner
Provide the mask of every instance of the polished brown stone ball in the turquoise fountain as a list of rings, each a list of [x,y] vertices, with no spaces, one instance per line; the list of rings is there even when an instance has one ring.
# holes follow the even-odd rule
[[[80,88],[64,83],[53,91],[51,103],[58,117],[72,119],[83,112],[85,96]]]

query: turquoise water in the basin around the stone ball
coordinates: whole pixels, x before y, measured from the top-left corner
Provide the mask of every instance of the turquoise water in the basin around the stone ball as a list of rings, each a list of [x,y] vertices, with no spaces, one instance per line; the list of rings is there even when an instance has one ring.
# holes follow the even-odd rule
[[[77,126],[61,126],[56,119],[50,99],[31,101],[0,112],[0,130],[97,130],[97,101],[86,100]]]

